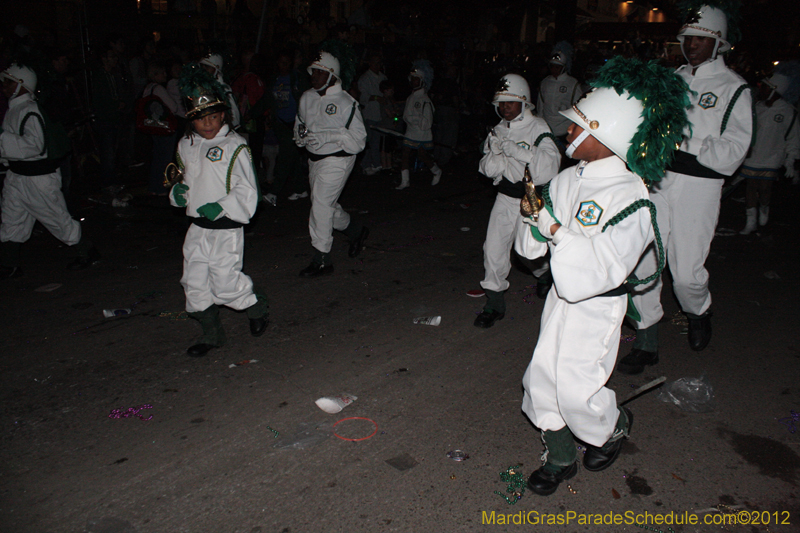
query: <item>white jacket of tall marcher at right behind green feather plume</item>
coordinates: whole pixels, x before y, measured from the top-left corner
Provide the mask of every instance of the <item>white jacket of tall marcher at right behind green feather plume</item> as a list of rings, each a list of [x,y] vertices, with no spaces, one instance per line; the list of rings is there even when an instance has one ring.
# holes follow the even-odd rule
[[[725,66],[718,57],[697,67],[683,65],[677,70],[696,94],[689,93],[692,107],[686,115],[691,122],[680,150],[697,156],[697,162],[725,176],[731,176],[742,164],[753,133],[752,97],[745,90],[733,107],[724,133],[720,127],[728,104],[736,90],[747,82]]]

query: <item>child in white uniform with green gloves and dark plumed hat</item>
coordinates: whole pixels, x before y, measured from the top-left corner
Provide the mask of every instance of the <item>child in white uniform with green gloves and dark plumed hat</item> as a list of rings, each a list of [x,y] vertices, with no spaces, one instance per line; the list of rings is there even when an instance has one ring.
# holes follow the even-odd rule
[[[203,337],[187,353],[201,357],[225,344],[219,305],[246,311],[250,333],[266,331],[266,296],[242,273],[244,229],[260,198],[247,141],[227,124],[224,89],[197,64],[184,68],[181,93],[188,100],[191,131],[178,143],[183,182],[170,201],[186,207],[192,221],[183,243],[186,311],[200,322]]]

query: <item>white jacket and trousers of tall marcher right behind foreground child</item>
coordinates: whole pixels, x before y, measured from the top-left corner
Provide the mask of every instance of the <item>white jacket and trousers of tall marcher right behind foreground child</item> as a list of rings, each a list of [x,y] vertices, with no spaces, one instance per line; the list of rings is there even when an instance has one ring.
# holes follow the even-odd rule
[[[650,199],[658,213],[658,228],[667,253],[667,262],[673,279],[673,290],[685,313],[702,315],[711,306],[708,290],[706,258],[719,217],[723,178],[731,176],[742,164],[753,132],[752,99],[749,90],[740,93],[720,134],[723,119],[737,90],[745,80],[725,66],[721,57],[697,67],[684,65],[677,73],[686,80],[692,107],[687,111],[691,122],[691,137],[685,132],[680,152],[675,153],[677,167],[681,157],[696,156],[702,167],[714,177],[698,177],[667,171],[666,176],[650,191]],[[688,170],[687,170],[688,171]],[[636,269],[639,279],[655,271],[655,247],[648,250]],[[633,293],[633,302],[642,316],[637,329],[646,329],[664,316],[661,307],[662,281],[639,286]]]

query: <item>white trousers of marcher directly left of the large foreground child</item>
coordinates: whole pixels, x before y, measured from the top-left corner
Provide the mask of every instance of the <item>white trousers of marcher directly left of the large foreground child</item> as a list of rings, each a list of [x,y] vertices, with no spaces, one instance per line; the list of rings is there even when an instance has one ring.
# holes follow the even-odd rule
[[[508,273],[511,271],[511,247],[517,234],[517,226],[522,224],[519,213],[519,198],[497,193],[497,198],[489,215],[486,241],[483,243],[483,268],[486,270],[481,287],[485,290],[502,292],[509,287]]]

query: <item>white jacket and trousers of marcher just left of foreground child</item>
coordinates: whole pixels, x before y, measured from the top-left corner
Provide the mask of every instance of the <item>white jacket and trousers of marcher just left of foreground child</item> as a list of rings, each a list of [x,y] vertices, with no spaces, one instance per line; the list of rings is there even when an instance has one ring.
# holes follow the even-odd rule
[[[484,143],[484,156],[479,170],[492,178],[495,185],[500,184],[503,178],[511,184],[521,182],[526,164],[530,164],[531,179],[535,185],[544,185],[558,174],[561,154],[553,139],[544,137],[539,141],[538,147],[534,146],[543,134],[550,133],[550,128],[544,120],[533,116],[531,111],[523,108],[516,119],[511,122],[501,120],[494,131],[498,138],[510,139],[527,150],[522,161],[502,153],[495,154],[489,147],[492,136],[489,134]],[[497,192],[492,213],[489,215],[486,241],[483,243],[483,266],[486,274],[481,287],[495,292],[505,291],[509,287],[506,278],[511,271],[511,247],[517,227],[522,224],[519,212],[521,197],[509,196],[502,191],[503,188]]]

